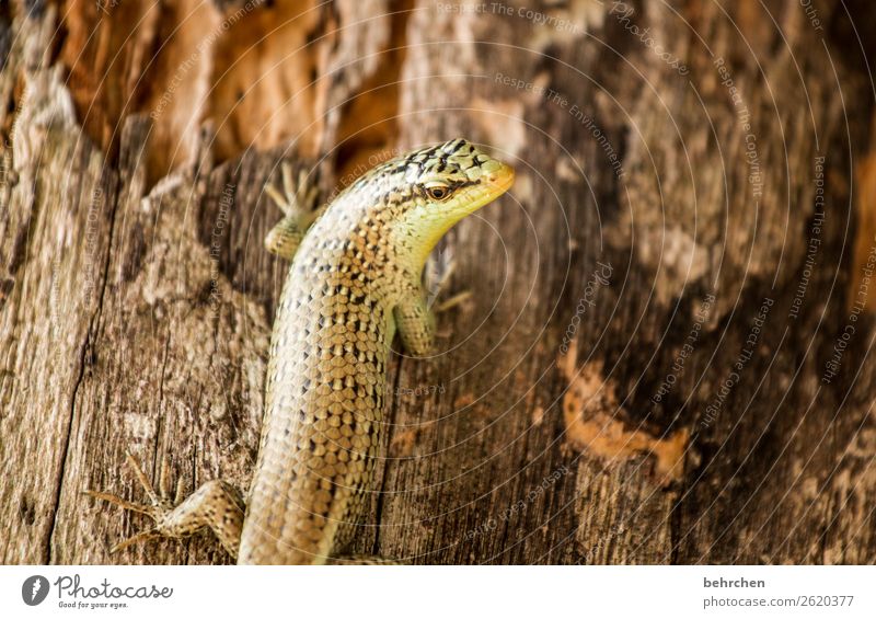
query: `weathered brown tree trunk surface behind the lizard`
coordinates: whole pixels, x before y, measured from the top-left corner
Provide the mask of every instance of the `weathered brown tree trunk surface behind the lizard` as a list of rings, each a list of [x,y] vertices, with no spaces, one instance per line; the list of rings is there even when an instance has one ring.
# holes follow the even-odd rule
[[[795,0],[27,1],[0,10],[0,557],[222,563],[125,466],[246,489],[287,264],[328,199],[464,136],[508,196],[440,245],[471,300],[394,355],[353,552],[872,563],[874,11]],[[401,351],[400,345],[394,345]]]

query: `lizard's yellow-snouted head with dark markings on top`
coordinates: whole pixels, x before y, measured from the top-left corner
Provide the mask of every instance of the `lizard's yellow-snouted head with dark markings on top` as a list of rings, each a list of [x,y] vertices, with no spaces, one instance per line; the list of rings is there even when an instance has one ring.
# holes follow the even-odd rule
[[[383,164],[389,204],[403,205],[394,242],[417,262],[454,223],[489,204],[514,183],[514,169],[464,139],[420,148]]]

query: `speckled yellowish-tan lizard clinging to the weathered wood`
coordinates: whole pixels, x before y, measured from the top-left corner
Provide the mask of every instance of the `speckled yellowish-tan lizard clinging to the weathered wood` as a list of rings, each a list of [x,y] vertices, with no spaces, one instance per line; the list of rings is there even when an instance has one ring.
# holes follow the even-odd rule
[[[452,226],[514,177],[511,167],[458,138],[378,164],[313,209],[315,188],[291,186],[285,170],[286,196],[266,187],[284,217],[265,247],[291,265],[274,322],[249,498],[214,480],[184,500],[177,486],[171,500],[163,477],[157,493],[128,454],[149,503],[85,491],[153,520],[113,551],[206,527],[238,564],[382,562],[338,552],[367,515],[376,463],[385,456],[393,337],[397,331],[413,355],[430,352],[426,261]]]

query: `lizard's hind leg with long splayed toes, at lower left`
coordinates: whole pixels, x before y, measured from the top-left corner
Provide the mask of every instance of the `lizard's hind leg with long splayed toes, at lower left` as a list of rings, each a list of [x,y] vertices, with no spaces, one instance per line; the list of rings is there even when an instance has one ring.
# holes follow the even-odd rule
[[[106,492],[87,490],[84,493],[124,509],[146,514],[152,518],[154,526],[118,542],[110,552],[117,552],[148,539],[161,537],[181,539],[208,527],[219,539],[222,548],[237,559],[245,512],[243,497],[237,488],[222,480],[208,481],[182,500],[181,486],[177,484],[176,496],[172,501],[168,496],[166,478],[163,472],[159,480],[159,492],[155,493],[137,460],[130,454],[126,460],[143,486],[150,504],[132,503]],[[163,471],[166,471],[166,467]]]

